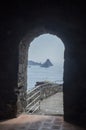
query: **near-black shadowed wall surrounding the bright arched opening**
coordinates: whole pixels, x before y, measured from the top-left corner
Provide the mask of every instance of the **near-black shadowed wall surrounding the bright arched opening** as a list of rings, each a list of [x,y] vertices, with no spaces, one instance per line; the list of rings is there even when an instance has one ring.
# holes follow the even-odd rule
[[[20,41],[27,34],[30,42],[36,37],[36,33],[38,36],[48,32],[60,37],[65,45],[64,119],[84,125],[86,121],[84,2],[7,1],[0,6],[0,119],[13,118],[17,115]]]

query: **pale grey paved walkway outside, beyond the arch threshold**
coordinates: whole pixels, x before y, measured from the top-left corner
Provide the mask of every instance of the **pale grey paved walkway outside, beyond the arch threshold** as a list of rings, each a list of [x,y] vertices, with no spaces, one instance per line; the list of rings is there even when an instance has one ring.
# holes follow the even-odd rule
[[[37,114],[63,115],[63,92],[56,93],[44,99],[40,103],[40,111]]]

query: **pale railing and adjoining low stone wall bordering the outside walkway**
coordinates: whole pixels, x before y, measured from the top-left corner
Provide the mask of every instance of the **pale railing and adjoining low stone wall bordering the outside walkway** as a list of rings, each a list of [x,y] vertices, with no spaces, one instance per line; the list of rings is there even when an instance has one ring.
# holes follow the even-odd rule
[[[60,85],[58,85],[60,87]],[[27,106],[26,113],[33,114],[40,110],[40,102],[42,99],[54,94],[59,90],[56,83],[45,83],[36,86],[31,91],[27,91]]]

